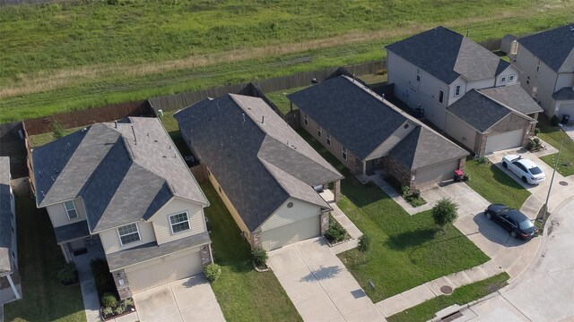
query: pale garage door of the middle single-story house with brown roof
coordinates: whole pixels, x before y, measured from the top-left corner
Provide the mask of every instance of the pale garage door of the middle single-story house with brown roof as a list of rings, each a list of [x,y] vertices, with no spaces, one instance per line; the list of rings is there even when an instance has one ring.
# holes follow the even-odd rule
[[[276,250],[293,242],[317,237],[321,233],[319,216],[312,216],[298,222],[283,225],[261,233],[261,242],[265,250]]]

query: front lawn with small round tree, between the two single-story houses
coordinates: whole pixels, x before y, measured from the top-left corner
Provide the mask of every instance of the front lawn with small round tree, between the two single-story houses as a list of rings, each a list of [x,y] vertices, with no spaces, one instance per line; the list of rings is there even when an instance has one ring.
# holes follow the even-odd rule
[[[346,251],[339,258],[372,301],[384,300],[489,259],[455,226],[447,225],[444,231],[438,231],[431,211],[409,216],[378,187],[369,188],[355,180],[309,133],[299,133],[346,176],[337,205],[362,233],[370,236],[371,246],[366,252]]]

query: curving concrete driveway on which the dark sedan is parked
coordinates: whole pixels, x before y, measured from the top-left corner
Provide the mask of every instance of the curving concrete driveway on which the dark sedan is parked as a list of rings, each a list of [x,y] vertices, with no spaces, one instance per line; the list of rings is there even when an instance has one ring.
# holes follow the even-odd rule
[[[490,205],[464,182],[449,182],[422,191],[422,198],[434,206],[439,199],[449,198],[458,205],[455,226],[492,260],[516,278],[535,258],[541,238],[524,242],[510,237],[508,231],[484,216]],[[532,218],[534,219],[534,218]]]

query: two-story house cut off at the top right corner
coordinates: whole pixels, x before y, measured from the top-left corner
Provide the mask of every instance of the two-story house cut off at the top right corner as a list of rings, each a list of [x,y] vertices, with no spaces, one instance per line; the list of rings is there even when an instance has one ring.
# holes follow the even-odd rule
[[[544,114],[574,117],[574,24],[517,39],[520,85]]]

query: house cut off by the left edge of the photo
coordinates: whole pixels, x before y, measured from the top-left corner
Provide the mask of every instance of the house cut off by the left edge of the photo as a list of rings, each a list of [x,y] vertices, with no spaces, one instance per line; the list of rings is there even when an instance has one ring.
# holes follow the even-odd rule
[[[15,210],[10,185],[10,158],[0,157],[0,306],[22,298]]]

